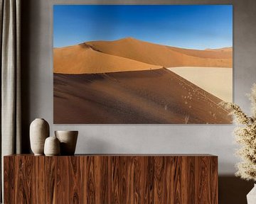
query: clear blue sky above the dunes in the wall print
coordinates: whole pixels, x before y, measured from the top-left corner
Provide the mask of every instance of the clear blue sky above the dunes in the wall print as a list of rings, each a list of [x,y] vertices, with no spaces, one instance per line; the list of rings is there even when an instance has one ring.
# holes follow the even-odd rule
[[[53,6],[53,47],[126,37],[198,50],[231,47],[233,6]]]

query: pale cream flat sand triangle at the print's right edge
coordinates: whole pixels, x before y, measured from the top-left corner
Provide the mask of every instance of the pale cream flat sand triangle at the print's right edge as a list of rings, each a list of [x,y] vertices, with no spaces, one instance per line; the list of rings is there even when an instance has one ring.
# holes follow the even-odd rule
[[[179,76],[217,96],[233,102],[233,70],[219,67],[172,67]]]

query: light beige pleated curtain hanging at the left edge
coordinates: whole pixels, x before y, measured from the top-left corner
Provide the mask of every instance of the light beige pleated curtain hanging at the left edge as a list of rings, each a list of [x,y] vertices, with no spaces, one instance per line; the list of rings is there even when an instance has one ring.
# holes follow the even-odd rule
[[[1,193],[3,158],[21,153],[21,0],[0,0]],[[1,198],[3,194],[1,195]]]

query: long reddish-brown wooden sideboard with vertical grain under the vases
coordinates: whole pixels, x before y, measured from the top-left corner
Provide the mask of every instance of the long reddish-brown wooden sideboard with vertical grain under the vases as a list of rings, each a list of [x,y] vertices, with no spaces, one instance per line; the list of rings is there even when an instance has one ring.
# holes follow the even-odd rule
[[[4,157],[4,203],[218,203],[218,157],[82,154]]]

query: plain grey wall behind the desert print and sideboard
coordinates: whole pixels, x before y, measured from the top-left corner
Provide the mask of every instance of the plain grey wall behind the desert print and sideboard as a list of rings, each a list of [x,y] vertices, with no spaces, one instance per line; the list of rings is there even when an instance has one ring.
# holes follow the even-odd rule
[[[79,130],[76,153],[208,153],[219,174],[233,174],[237,146],[233,125],[53,125],[53,4],[233,4],[235,103],[249,113],[245,93],[256,82],[256,1],[22,1],[23,150],[28,128],[45,118],[54,130]]]

